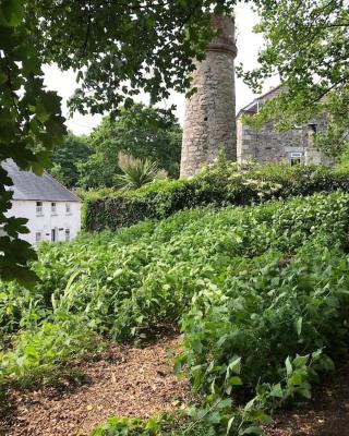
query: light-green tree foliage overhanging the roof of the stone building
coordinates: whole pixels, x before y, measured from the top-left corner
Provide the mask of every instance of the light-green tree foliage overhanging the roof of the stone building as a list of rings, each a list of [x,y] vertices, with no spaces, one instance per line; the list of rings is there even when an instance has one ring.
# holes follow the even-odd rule
[[[239,73],[256,92],[278,74],[288,94],[269,100],[258,114],[280,129],[326,113],[328,131],[317,145],[330,154],[348,144],[349,3],[348,0],[255,0],[265,37],[258,68]]]

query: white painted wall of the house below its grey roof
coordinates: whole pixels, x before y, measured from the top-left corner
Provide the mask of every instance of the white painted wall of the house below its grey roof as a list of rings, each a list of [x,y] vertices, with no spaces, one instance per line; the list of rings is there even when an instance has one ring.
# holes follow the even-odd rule
[[[70,213],[65,204],[70,204]],[[8,217],[27,218],[26,227],[29,233],[22,234],[21,239],[36,244],[36,233],[41,241],[51,241],[51,231],[56,229],[57,241],[65,241],[65,229],[70,230],[70,240],[74,239],[81,229],[81,203],[56,202],[56,214],[51,210],[51,202],[43,202],[43,214],[36,211],[36,201],[13,199],[12,208],[5,214]]]

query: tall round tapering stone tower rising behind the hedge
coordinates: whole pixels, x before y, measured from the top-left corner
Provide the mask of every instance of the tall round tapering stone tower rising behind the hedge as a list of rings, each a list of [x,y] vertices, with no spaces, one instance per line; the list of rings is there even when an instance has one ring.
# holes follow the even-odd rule
[[[220,148],[228,159],[237,160],[234,22],[214,16],[213,26],[222,33],[209,44],[206,59],[195,62],[192,86],[197,92],[185,102],[181,178],[213,162]]]

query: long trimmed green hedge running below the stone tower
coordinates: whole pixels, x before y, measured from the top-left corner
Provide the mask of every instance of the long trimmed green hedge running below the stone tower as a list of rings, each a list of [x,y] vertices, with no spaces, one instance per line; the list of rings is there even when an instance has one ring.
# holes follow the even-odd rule
[[[116,230],[145,219],[163,219],[200,206],[244,206],[270,198],[349,190],[349,169],[270,164],[237,169],[236,165],[205,169],[186,180],[165,180],[131,192],[85,194],[83,228]]]

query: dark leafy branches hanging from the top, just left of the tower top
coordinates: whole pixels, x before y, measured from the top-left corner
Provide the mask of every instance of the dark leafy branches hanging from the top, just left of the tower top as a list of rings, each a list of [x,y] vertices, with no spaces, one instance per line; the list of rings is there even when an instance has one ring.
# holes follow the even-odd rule
[[[43,60],[77,73],[71,108],[100,113],[128,107],[140,89],[155,102],[188,88],[192,59],[204,57],[213,37],[210,13],[231,13],[234,3],[40,0],[28,2],[28,12]]]

